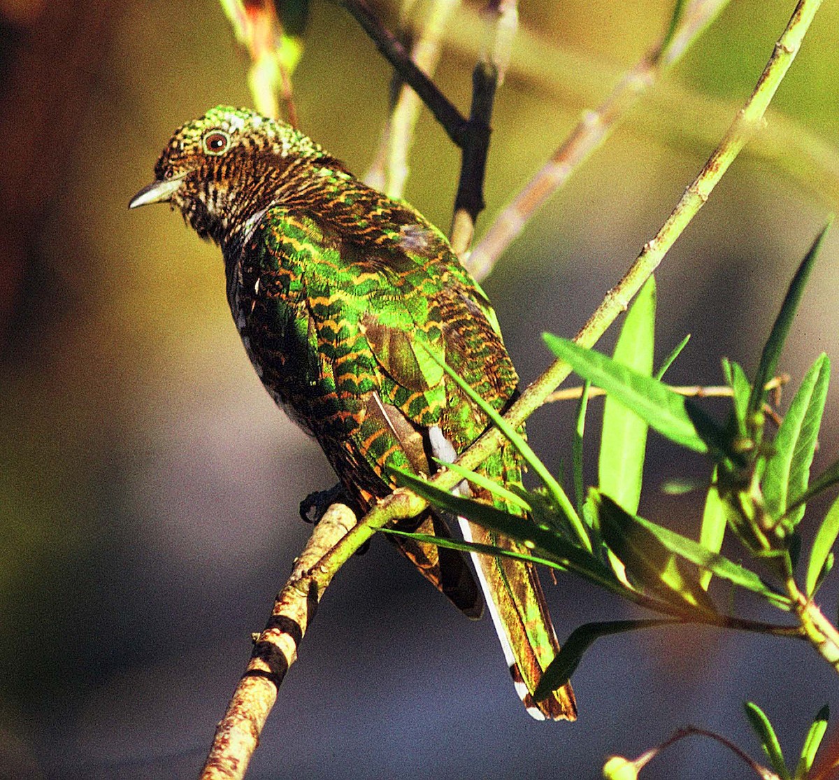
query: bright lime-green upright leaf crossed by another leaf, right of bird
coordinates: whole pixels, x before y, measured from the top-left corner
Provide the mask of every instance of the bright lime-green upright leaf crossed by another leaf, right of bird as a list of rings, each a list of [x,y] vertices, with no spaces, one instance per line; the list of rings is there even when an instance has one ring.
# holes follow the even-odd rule
[[[650,276],[623,322],[612,359],[638,374],[653,372],[655,278]],[[638,510],[647,449],[647,423],[615,395],[603,406],[598,481],[600,489],[628,512]]]

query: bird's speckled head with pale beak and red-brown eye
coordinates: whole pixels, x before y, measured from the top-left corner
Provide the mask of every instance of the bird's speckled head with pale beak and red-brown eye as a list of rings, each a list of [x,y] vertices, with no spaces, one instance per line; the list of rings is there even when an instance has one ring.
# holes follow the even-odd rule
[[[221,243],[276,199],[292,169],[326,156],[286,123],[216,106],[175,131],[154,166],[154,181],[128,207],[169,202],[202,238]]]

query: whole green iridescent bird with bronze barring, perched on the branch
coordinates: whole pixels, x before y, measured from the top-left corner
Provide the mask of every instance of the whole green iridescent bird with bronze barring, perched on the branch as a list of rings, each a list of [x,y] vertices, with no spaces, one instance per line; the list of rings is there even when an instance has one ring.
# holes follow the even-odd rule
[[[302,133],[216,107],[175,132],[154,174],[130,206],[170,202],[219,244],[227,300],[257,374],[315,437],[357,511],[393,489],[388,468],[431,474],[433,458],[451,461],[487,427],[429,351],[498,410],[514,400],[518,377],[492,306],[446,237]],[[482,471],[507,484],[521,477],[510,447]],[[448,535],[430,511],[402,527]],[[467,539],[513,547],[461,527]],[[459,552],[396,544],[466,615],[481,615],[483,591],[531,715],[576,717],[570,686],[539,703],[531,695],[559,650],[532,566],[478,556],[478,589]]]

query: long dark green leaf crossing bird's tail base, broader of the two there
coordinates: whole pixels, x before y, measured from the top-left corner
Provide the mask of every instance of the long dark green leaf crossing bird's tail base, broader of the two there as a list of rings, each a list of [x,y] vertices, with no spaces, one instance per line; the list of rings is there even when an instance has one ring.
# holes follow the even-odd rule
[[[399,469],[390,469],[390,472],[397,484],[410,488],[432,505],[515,539],[524,544],[529,551],[535,551],[540,558],[553,560],[552,565],[559,564],[607,589],[615,589],[616,581],[610,569],[606,568],[591,552],[568,542],[550,526],[537,526],[524,517],[510,515],[494,506],[451,495],[446,490],[441,490],[409,472]]]

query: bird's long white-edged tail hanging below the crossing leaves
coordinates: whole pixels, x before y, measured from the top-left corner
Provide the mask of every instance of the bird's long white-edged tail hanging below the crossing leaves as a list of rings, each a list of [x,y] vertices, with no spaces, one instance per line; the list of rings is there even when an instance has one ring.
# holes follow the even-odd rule
[[[459,521],[467,542],[527,552],[493,531],[487,531],[462,517]],[[529,714],[536,720],[576,720],[576,700],[571,683],[565,683],[542,701],[537,702],[533,698],[542,673],[560,652],[539,575],[533,564],[515,558],[492,558],[475,553],[472,553],[472,560],[492,615],[492,625],[513,675],[516,693]]]

